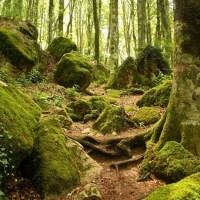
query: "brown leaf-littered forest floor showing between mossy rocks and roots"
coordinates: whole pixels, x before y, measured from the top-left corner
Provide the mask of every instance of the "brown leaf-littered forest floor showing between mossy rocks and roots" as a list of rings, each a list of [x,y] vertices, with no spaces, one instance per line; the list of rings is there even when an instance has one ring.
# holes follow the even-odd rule
[[[95,94],[103,95],[105,93],[103,87],[92,88]],[[140,99],[139,95],[126,95],[117,99],[117,104],[122,106],[136,106],[136,102]],[[88,97],[89,98],[89,97]],[[164,110],[157,108],[161,114]],[[134,112],[134,111],[132,111]],[[130,112],[128,115],[132,115]],[[103,136],[95,133],[92,130],[94,121],[88,123],[75,123],[66,134],[69,136],[92,136],[101,140],[112,139],[117,137],[133,136],[145,131],[149,127],[139,128],[127,128],[119,134],[111,134]],[[138,160],[133,163],[128,163],[119,168],[111,167],[113,162],[123,161],[129,159],[129,157],[116,157],[108,156],[100,152],[91,151],[86,148],[89,155],[96,160],[102,166],[101,176],[92,180],[92,183],[96,184],[101,192],[102,200],[142,200],[150,193],[156,190],[158,187],[164,185],[164,181],[151,176],[150,180],[143,182],[138,181],[139,171],[142,160]],[[134,156],[142,155],[145,152],[144,148],[137,147],[134,149]],[[83,186],[76,188],[70,194],[65,197],[57,198],[57,200],[72,200],[73,196],[79,193],[83,189]],[[11,182],[8,186],[8,199],[9,200],[40,200],[40,196],[37,194],[34,187],[26,179],[21,181]]]

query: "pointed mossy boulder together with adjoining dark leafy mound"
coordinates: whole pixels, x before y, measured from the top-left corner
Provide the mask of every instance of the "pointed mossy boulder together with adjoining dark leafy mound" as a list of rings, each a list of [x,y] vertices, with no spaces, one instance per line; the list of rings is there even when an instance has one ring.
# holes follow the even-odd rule
[[[153,78],[160,72],[169,74],[170,68],[160,49],[147,46],[135,60],[128,57],[116,70],[108,81],[108,88],[127,89],[131,87],[147,86],[152,87]]]

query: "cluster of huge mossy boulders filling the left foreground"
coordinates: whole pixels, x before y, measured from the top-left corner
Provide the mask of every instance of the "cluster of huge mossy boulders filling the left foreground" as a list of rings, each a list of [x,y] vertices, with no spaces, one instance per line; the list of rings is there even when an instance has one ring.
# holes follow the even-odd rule
[[[22,170],[42,197],[70,191],[99,175],[101,167],[64,135],[62,127],[72,123],[65,110],[40,118],[40,107],[4,82],[0,82],[0,97],[0,151],[6,161],[0,162],[0,190],[15,170]],[[66,124],[62,117],[68,119]]]

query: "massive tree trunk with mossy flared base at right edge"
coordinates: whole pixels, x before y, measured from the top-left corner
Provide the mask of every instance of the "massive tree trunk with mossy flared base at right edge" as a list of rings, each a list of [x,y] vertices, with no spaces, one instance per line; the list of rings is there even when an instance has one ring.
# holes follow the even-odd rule
[[[143,175],[152,152],[167,141],[181,143],[200,156],[200,1],[174,0],[174,80],[166,115],[151,129]],[[151,154],[151,155],[150,155]]]

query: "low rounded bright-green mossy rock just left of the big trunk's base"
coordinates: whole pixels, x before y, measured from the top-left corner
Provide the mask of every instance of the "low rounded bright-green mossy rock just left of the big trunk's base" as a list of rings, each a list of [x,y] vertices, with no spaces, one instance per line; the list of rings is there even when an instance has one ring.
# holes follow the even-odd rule
[[[160,114],[156,111],[155,108],[151,107],[142,107],[138,110],[138,112],[133,116],[133,121],[144,125],[154,124],[160,119]]]

